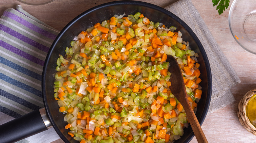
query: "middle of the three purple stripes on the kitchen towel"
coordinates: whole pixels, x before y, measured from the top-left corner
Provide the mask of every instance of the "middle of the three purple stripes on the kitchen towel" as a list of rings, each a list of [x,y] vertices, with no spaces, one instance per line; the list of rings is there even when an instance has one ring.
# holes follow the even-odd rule
[[[30,39],[30,38],[28,38],[28,37],[18,33],[17,31],[12,30],[11,28],[9,28],[9,27],[7,27],[5,25],[0,24],[0,29],[2,31],[4,31],[4,32],[10,34],[11,36],[13,36],[13,37],[15,37],[15,38],[17,38],[19,40],[22,40],[22,41],[24,41],[24,42],[26,42],[26,43],[28,43],[28,44],[30,44],[30,45],[32,45],[32,46],[42,50],[44,52],[48,52],[49,49],[50,49],[49,47],[47,47],[45,45],[42,45],[42,44],[40,44],[40,43]]]

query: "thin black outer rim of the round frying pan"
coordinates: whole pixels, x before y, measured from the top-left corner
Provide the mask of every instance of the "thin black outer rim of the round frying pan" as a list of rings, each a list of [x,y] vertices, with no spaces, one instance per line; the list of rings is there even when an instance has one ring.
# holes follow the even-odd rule
[[[196,36],[196,34],[192,31],[192,29],[185,23],[183,22],[178,16],[176,16],[175,14],[173,14],[172,12],[161,8],[159,6],[156,6],[154,4],[150,4],[150,3],[146,3],[146,2],[140,2],[140,1],[114,1],[114,2],[109,2],[109,3],[105,3],[105,4],[101,4],[98,5],[96,7],[90,8],[84,12],[82,12],[81,14],[79,14],[78,16],[76,16],[72,21],[70,21],[58,34],[58,36],[55,38],[55,40],[53,41],[52,46],[49,49],[49,52],[46,56],[46,60],[45,60],[45,64],[43,67],[43,74],[42,74],[42,93],[43,93],[43,102],[44,102],[44,106],[46,108],[46,113],[50,119],[50,122],[52,123],[52,126],[54,128],[54,130],[57,132],[57,134],[60,136],[60,138],[64,141],[64,142],[70,142],[69,140],[67,140],[67,138],[62,134],[62,132],[60,131],[60,129],[57,127],[57,125],[55,124],[52,114],[50,113],[50,109],[47,103],[47,98],[46,98],[46,89],[45,89],[45,85],[46,85],[46,71],[47,71],[47,67],[49,64],[49,59],[52,56],[53,53],[53,49],[54,47],[56,47],[56,43],[58,40],[60,40],[60,38],[63,36],[63,34],[65,33],[65,31],[71,27],[73,24],[76,23],[76,21],[78,21],[80,18],[86,16],[89,13],[94,12],[97,9],[100,8],[105,8],[105,7],[112,7],[112,6],[118,6],[118,5],[137,5],[137,6],[142,6],[142,7],[147,7],[147,8],[151,8],[157,11],[160,11],[161,13],[164,13],[166,15],[168,15],[169,17],[173,18],[175,21],[177,21],[179,24],[181,24],[186,30],[187,32],[191,35],[191,37],[193,38],[193,40],[195,41],[195,43],[197,44],[202,56],[203,56],[203,61],[205,64],[205,68],[206,68],[206,75],[207,75],[207,97],[206,97],[206,103],[204,106],[204,110],[202,113],[201,118],[199,119],[199,123],[200,125],[203,124],[203,121],[207,115],[208,109],[209,109],[209,105],[210,105],[210,101],[211,101],[211,93],[212,93],[212,76],[211,76],[211,70],[210,70],[210,64],[209,64],[209,60],[208,57],[206,55],[206,52],[203,48],[202,43],[200,42],[200,40],[198,39],[198,37]],[[209,101],[209,102],[207,102]],[[185,142],[189,142],[194,136],[194,133],[192,132],[192,134],[190,134],[187,139],[185,140]]]

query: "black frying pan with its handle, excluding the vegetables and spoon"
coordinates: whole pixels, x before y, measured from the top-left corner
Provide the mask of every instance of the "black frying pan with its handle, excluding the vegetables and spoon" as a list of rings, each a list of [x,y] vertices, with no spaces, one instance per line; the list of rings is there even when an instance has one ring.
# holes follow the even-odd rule
[[[56,60],[59,54],[65,55],[65,48],[70,46],[71,40],[81,31],[93,26],[98,22],[109,19],[113,15],[142,13],[145,17],[153,22],[160,22],[167,26],[175,26],[182,33],[184,41],[188,41],[190,47],[199,54],[198,62],[200,63],[200,78],[202,82],[203,95],[198,103],[196,116],[202,125],[207,114],[212,91],[211,70],[208,58],[204,48],[195,33],[180,18],[173,13],[160,8],[156,5],[139,2],[139,1],[116,1],[91,8],[78,15],[74,20],[67,24],[54,40],[45,60],[42,75],[42,92],[44,100],[44,109],[33,111],[18,119],[12,120],[0,126],[0,141],[15,142],[26,138],[30,135],[37,134],[53,126],[57,134],[66,143],[77,143],[64,127],[67,122],[64,121],[64,114],[59,113],[57,101],[53,98],[53,85],[55,78]],[[65,17],[63,15],[63,17]],[[44,113],[46,111],[46,114]],[[49,122],[49,120],[50,122]],[[184,129],[184,135],[176,143],[189,142],[194,134],[189,126]]]

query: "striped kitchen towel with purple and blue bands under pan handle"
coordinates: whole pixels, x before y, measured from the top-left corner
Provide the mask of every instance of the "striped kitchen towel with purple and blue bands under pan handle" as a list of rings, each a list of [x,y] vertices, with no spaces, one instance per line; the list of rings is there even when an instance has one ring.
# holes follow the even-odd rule
[[[20,5],[4,11],[0,19],[0,124],[44,107],[42,71],[58,33]],[[58,138],[52,128],[20,142],[52,142]]]

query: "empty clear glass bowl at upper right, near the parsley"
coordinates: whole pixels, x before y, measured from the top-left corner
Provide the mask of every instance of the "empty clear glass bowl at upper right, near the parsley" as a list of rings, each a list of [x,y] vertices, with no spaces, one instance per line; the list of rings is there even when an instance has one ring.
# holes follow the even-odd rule
[[[234,39],[246,51],[256,54],[256,0],[234,0],[228,15]]]

